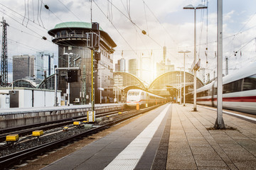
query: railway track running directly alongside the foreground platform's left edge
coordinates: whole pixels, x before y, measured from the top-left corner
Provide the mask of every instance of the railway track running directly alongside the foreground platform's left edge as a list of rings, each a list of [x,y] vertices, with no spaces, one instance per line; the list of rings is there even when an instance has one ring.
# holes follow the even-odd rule
[[[146,113],[148,111],[151,111],[152,109],[156,108],[158,106],[152,106],[150,108],[144,108],[141,111],[129,111],[129,113],[126,113],[122,115],[122,118],[119,118],[117,120],[113,120],[110,123],[105,123],[104,125],[98,125],[96,128],[91,128],[90,130],[86,130],[85,132],[80,132],[79,134],[76,135],[71,135],[59,140],[55,140],[53,142],[47,142],[42,145],[38,145],[36,147],[31,147],[29,149],[24,149],[21,150],[20,152],[16,152],[13,154],[8,154],[4,157],[0,157],[0,169],[7,169],[10,166],[14,166],[15,164],[20,164],[26,159],[31,159],[31,157],[36,157],[37,155],[43,154],[49,150],[58,148],[63,145],[67,145],[70,142],[73,142],[75,140],[80,140],[83,137],[87,137],[89,135],[95,134],[97,132],[100,132],[102,130],[105,130],[112,125],[115,125],[117,123],[120,123],[124,120],[128,120],[129,118],[133,118],[137,115],[140,115],[142,113]],[[113,113],[112,113],[113,114]]]

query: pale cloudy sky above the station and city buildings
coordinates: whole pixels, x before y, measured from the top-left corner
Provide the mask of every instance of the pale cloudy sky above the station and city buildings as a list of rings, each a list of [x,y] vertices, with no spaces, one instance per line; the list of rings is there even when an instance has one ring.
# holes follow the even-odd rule
[[[9,24],[9,77],[12,77],[13,55],[35,55],[45,50],[58,54],[57,45],[48,35],[48,30],[56,24],[90,23],[91,18],[116,42],[114,62],[122,53],[126,60],[139,58],[143,53],[144,57],[152,55],[153,62],[160,62],[166,46],[167,58],[177,70],[183,67],[183,54],[178,51],[191,51],[186,55],[188,69],[194,58],[194,11],[185,10],[183,6],[207,6],[207,2],[208,10],[196,10],[196,58],[212,79],[217,62],[217,0],[92,0],[92,4],[90,0],[1,0],[0,16]],[[225,57],[228,57],[229,73],[256,61],[255,6],[256,1],[251,0],[223,1],[223,74]],[[43,36],[47,40],[43,40]]]

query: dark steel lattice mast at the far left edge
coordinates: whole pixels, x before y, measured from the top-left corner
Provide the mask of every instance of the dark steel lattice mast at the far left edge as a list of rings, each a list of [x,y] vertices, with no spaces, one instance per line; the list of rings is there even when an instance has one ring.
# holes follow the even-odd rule
[[[3,24],[3,34],[2,34],[2,53],[1,53],[1,86],[8,86],[8,60],[7,60],[7,26],[8,23],[4,20],[1,21]]]

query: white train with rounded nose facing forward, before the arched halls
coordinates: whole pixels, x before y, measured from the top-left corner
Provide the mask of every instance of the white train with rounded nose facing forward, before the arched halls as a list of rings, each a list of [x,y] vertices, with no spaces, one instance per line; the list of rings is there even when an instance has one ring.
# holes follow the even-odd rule
[[[145,106],[146,103],[154,105],[165,101],[166,98],[156,96],[155,94],[140,89],[131,89],[127,92],[127,106],[137,106],[137,103],[139,103],[139,106]]]

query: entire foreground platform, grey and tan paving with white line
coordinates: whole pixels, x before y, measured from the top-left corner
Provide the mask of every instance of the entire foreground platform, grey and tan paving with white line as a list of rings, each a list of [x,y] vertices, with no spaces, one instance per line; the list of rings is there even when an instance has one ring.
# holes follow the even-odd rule
[[[216,111],[198,106],[194,112],[192,108],[168,103],[105,130],[102,136],[92,135],[93,142],[65,157],[59,159],[58,152],[68,147],[53,158],[49,154],[18,170],[255,169],[255,115],[223,114],[230,129],[212,130]]]

